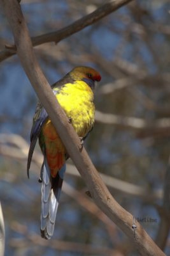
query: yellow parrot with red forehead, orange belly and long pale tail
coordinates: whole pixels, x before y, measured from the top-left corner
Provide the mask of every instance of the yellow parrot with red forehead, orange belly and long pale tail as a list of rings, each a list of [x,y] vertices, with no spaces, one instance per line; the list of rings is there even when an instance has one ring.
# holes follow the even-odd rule
[[[82,141],[94,126],[94,88],[99,81],[101,81],[101,75],[94,68],[78,66],[51,86],[68,121],[71,120],[74,130]],[[40,101],[36,106],[32,122],[27,159],[28,177],[32,154],[38,139],[43,154],[39,177],[41,182],[40,229],[41,237],[50,239],[53,236],[62,182],[66,172],[66,160],[69,155]]]

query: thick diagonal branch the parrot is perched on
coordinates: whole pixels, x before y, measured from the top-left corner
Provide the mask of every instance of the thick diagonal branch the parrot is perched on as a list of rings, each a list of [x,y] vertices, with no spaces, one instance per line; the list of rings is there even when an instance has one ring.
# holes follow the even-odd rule
[[[69,156],[73,159],[81,177],[85,180],[94,202],[96,202],[97,206],[129,236],[141,255],[164,255],[137,221],[134,236],[132,215],[125,211],[111,196],[99,176],[99,173],[92,164],[85,148],[81,147],[80,139],[72,125],[69,124],[64,111],[60,108],[43,72],[39,68],[32,49],[29,31],[17,0],[1,0],[1,3],[3,4],[6,17],[13,31],[17,54],[22,63],[22,67],[29,77],[39,100],[41,100],[50,116],[53,125],[57,129],[60,138],[67,148]],[[113,3],[117,3],[117,1]],[[124,3],[127,3],[127,1]]]

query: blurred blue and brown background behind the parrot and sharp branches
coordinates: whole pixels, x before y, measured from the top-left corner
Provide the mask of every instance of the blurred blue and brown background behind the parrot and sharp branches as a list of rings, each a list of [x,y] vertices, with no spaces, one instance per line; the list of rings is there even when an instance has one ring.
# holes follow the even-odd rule
[[[102,0],[23,0],[31,36],[64,28]],[[85,148],[117,202],[170,255],[170,4],[132,1],[55,45],[35,47],[50,84],[76,65],[96,68],[96,124]],[[13,36],[3,13],[0,47]],[[29,134],[37,97],[17,56],[0,63],[0,198],[5,255],[138,255],[129,239],[90,198],[69,160],[55,232],[41,239],[42,156],[36,147],[27,179]]]

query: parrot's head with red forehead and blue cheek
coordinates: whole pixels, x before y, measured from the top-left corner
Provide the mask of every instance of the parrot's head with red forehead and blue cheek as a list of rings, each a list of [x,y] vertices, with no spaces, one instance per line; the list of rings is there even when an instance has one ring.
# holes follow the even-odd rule
[[[94,82],[101,81],[101,75],[99,72],[90,67],[74,67],[73,70],[69,72],[69,75],[74,80],[85,81],[92,89],[94,88]]]

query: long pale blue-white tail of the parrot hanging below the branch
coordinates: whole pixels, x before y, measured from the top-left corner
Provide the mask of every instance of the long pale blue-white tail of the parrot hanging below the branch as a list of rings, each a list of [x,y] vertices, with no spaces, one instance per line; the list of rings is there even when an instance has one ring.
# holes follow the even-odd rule
[[[57,176],[53,178],[45,157],[41,167],[41,237],[45,239],[50,239],[53,235],[65,171],[66,164],[60,168]]]

